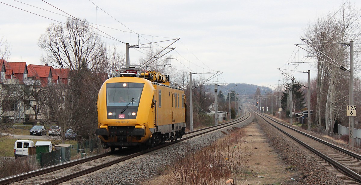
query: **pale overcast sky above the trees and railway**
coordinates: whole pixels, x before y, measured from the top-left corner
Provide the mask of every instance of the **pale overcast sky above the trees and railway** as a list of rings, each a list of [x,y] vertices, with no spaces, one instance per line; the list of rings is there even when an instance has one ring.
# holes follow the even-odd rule
[[[0,36],[12,47],[9,62],[41,64],[39,58],[44,52],[37,45],[40,35],[49,24],[65,22],[68,13],[90,23],[116,28],[98,26],[99,30],[131,45],[181,38],[172,45],[177,47],[176,51],[170,52],[179,58],[171,61],[174,68],[188,73],[191,70],[195,73],[220,71],[222,74],[213,79],[218,83],[257,85],[282,83],[279,81],[281,71],[277,68],[293,69],[295,66],[286,62],[298,62],[307,55],[293,45],[301,43],[303,29],[317,17],[334,12],[344,4],[342,0],[45,1],[65,13],[41,0],[0,0]],[[361,8],[361,1],[351,3]],[[130,30],[145,35],[138,39],[137,34],[129,33]],[[125,44],[103,39],[107,45],[117,45],[119,51],[125,53]],[[159,45],[166,47],[168,44]],[[131,62],[145,57],[139,51],[145,53],[142,49],[130,49]],[[306,70],[311,70],[314,76],[314,68],[309,64],[297,66],[297,71]],[[294,76],[298,80],[308,78],[302,73]]]

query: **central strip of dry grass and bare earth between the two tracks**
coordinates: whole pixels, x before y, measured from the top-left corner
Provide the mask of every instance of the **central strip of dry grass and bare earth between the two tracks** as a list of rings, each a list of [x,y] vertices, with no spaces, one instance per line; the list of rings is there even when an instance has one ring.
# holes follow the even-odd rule
[[[225,185],[228,179],[240,185],[277,185],[293,175],[292,167],[284,165],[257,124],[223,133],[227,134],[224,138],[196,153],[189,143],[173,165],[158,169],[159,176],[143,185]]]

